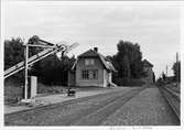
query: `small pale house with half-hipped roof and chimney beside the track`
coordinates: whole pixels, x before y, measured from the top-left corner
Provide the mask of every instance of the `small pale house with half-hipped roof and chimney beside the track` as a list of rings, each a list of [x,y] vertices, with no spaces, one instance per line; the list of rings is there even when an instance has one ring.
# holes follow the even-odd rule
[[[98,48],[80,54],[68,73],[68,86],[116,86],[111,82],[115,67]]]

